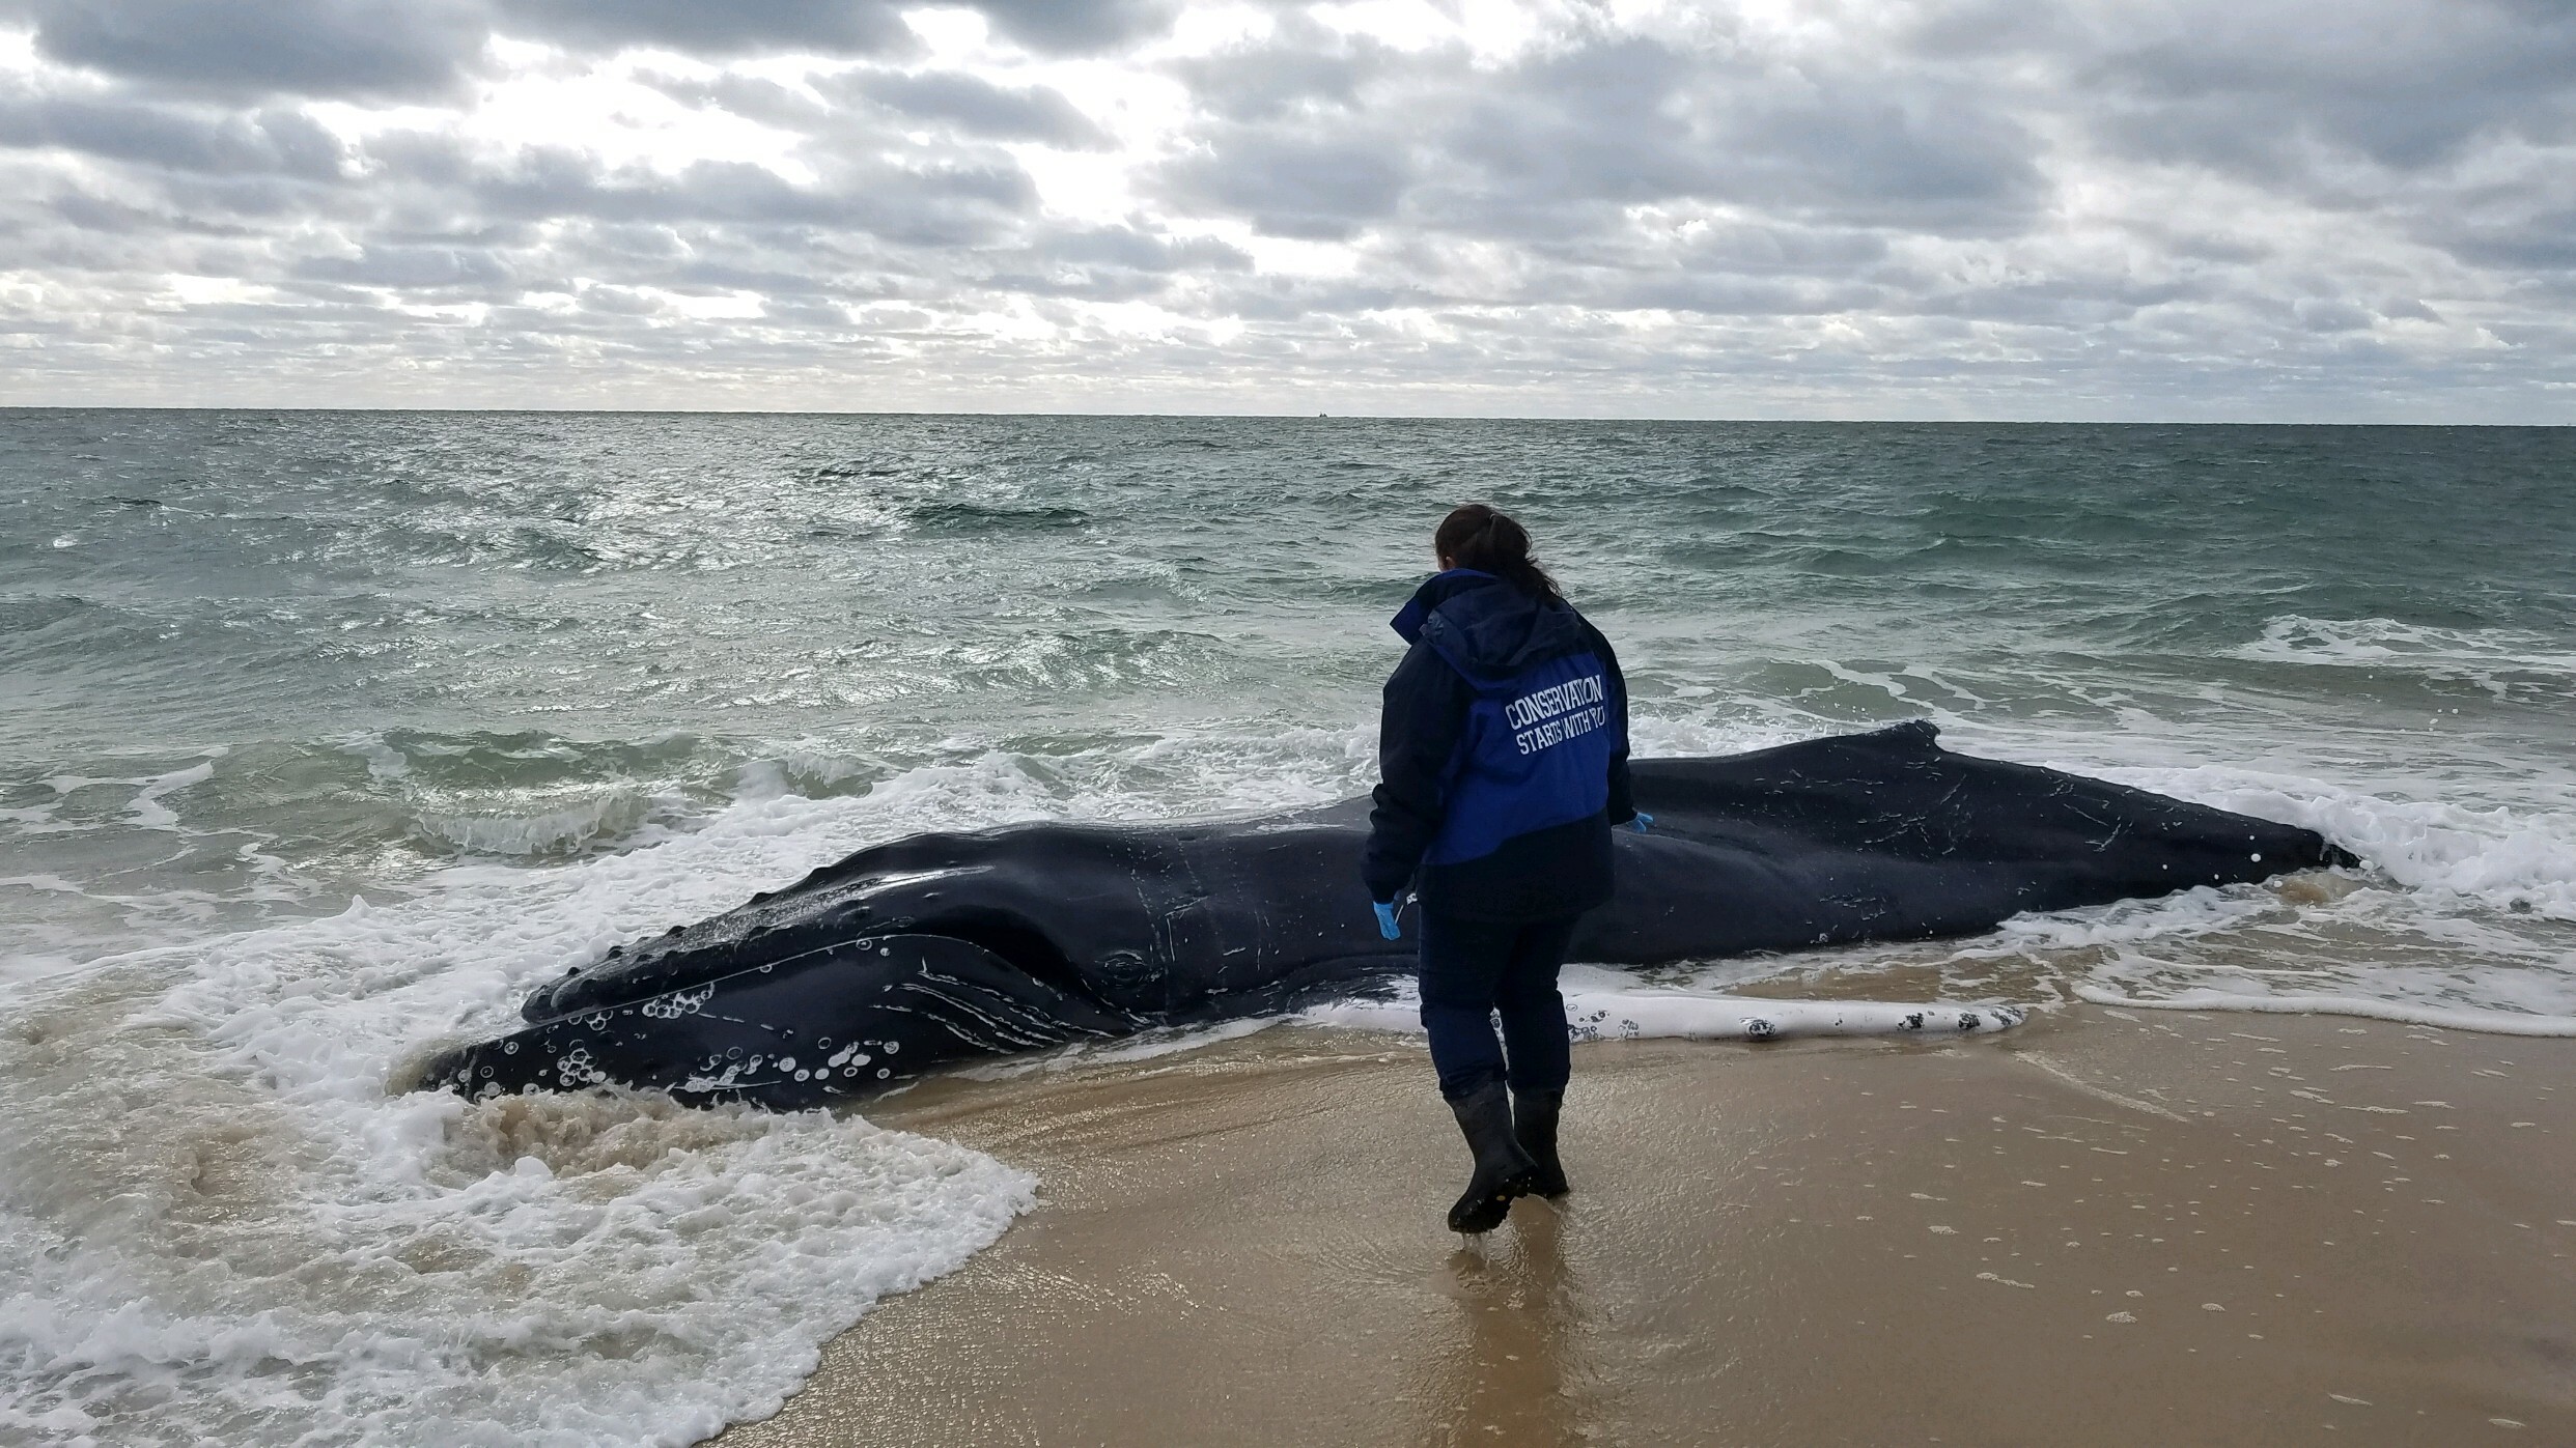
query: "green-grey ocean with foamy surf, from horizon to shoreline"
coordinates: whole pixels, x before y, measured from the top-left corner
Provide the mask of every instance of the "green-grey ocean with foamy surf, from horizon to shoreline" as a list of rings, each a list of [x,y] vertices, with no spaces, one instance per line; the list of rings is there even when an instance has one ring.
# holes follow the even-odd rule
[[[775,1404],[1038,1183],[386,1082],[868,843],[1365,791],[1479,497],[1643,755],[1932,719],[2367,861],[1656,989],[2576,1033],[2571,430],[10,410],[0,1438]]]

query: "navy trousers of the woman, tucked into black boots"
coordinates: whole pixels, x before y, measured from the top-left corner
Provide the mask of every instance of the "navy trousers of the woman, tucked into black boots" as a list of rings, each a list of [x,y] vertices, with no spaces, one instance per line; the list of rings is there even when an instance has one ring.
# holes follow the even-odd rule
[[[1566,964],[1574,920],[1458,920],[1422,915],[1422,1028],[1432,1036],[1440,1095],[1461,1100],[1486,1082],[1566,1090]],[[1502,1015],[1502,1041],[1494,1038]]]

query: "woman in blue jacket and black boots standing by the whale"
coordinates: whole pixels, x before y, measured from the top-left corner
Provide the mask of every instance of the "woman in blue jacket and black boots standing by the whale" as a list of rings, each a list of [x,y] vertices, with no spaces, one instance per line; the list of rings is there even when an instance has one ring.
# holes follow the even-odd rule
[[[1628,799],[1618,657],[1530,559],[1530,533],[1471,502],[1432,554],[1440,572],[1394,618],[1409,649],[1386,680],[1363,868],[1388,940],[1404,889],[1422,902],[1422,1025],[1476,1154],[1448,1221],[1489,1232],[1512,1198],[1566,1193],[1556,969],[1574,920],[1610,899],[1610,827],[1649,817]]]

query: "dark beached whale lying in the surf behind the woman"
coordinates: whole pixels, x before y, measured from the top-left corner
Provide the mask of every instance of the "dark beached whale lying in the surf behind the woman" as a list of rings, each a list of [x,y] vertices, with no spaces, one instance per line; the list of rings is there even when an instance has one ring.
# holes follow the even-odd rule
[[[2354,863],[2311,830],[1953,755],[1924,721],[1631,770],[1654,830],[1615,832],[1618,897],[1584,917],[1577,961],[1973,935]],[[1414,964],[1412,925],[1381,940],[1370,920],[1365,835],[1368,801],[914,835],[574,966],[526,1000],[526,1031],[440,1054],[425,1085],[799,1108],[969,1056],[1293,1010]]]

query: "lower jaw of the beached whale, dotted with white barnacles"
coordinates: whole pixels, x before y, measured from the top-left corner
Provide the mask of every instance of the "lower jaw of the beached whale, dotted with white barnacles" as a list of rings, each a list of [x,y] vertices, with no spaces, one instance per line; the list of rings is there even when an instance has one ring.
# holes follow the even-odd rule
[[[433,1059],[464,1095],[626,1085],[814,1105],[961,1056],[1126,1036],[1136,1020],[951,935],[876,935],[603,1005]]]

